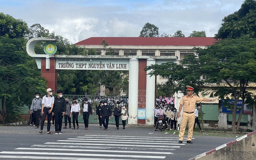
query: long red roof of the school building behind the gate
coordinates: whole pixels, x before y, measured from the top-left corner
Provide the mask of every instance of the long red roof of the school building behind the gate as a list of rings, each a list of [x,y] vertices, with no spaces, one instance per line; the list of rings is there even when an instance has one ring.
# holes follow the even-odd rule
[[[213,37],[91,37],[75,44],[102,45],[103,39],[108,45],[132,46],[206,46],[215,41]]]

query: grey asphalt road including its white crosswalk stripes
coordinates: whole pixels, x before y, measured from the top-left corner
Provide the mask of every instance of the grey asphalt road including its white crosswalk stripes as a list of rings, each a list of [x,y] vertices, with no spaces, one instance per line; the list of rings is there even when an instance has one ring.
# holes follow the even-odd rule
[[[189,159],[236,139],[193,136],[193,144],[180,145],[178,135],[156,132],[152,126],[116,130],[109,125],[108,131],[97,124],[89,124],[89,130],[84,130],[84,124],[79,126],[53,135],[46,134],[46,124],[43,134],[33,126],[0,126],[0,159]]]

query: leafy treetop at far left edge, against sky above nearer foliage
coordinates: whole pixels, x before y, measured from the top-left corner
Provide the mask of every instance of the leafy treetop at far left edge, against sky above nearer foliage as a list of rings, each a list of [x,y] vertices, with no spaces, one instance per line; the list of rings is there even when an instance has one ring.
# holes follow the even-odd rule
[[[0,13],[0,38],[23,38],[28,33],[28,25],[21,19]]]

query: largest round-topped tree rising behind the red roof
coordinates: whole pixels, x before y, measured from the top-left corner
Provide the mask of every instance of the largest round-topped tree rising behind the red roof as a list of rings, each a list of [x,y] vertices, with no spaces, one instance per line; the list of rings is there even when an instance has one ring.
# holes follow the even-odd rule
[[[140,31],[139,37],[159,37],[158,27],[154,24],[146,23]]]

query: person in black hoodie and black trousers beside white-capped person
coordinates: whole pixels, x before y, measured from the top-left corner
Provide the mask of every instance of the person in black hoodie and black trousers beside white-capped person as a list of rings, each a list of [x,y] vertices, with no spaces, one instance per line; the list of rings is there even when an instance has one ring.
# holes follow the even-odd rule
[[[63,91],[57,91],[57,97],[54,99],[54,106],[52,110],[52,115],[55,115],[55,134],[62,134],[62,119],[66,112],[66,101],[62,97]]]

